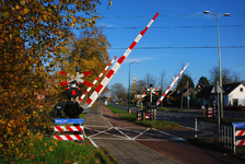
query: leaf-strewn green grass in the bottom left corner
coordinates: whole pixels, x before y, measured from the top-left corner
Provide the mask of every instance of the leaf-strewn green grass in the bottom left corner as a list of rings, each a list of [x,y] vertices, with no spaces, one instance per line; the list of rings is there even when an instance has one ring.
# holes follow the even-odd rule
[[[28,141],[27,141],[28,142]],[[23,144],[23,143],[22,143]],[[21,144],[20,144],[21,147]],[[33,142],[15,156],[0,159],[0,163],[118,163],[105,149],[93,147],[89,140],[83,143],[59,141],[48,137],[33,137]]]

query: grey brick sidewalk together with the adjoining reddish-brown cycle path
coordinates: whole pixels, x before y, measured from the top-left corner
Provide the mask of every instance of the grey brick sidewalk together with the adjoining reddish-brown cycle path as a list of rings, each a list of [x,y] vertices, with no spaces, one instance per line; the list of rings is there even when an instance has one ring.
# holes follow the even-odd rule
[[[84,121],[85,127],[133,127],[140,128],[131,121],[124,120],[108,109],[104,104],[90,110]],[[141,127],[143,128],[143,127]],[[190,134],[187,129],[184,131],[167,130],[174,136]],[[189,133],[190,132],[190,133]],[[126,163],[151,163],[151,164],[242,164],[243,161],[222,153],[194,147],[188,142],[178,141],[148,141],[148,140],[116,140],[116,139],[93,139],[98,147],[106,148],[109,153],[119,162]]]

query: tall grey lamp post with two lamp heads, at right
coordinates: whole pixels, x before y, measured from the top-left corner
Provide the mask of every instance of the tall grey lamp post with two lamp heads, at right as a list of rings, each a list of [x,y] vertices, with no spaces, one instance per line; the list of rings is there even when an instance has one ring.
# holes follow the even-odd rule
[[[206,14],[212,14],[217,16],[217,34],[218,34],[218,49],[219,49],[219,67],[220,67],[220,86],[222,87],[222,69],[221,69],[221,51],[220,51],[220,31],[219,31],[219,15],[230,16],[230,13],[215,14],[210,11],[205,11]],[[223,118],[223,93],[220,93],[220,109],[221,118]]]

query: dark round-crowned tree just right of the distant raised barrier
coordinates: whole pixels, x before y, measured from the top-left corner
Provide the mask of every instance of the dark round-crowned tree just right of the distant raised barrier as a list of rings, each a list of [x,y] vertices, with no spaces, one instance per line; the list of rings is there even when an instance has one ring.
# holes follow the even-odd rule
[[[184,91],[184,89],[187,87],[187,81],[188,81],[188,87],[194,87],[194,81],[187,74],[182,75],[182,78],[178,80],[178,83],[177,83],[177,86],[176,86],[176,89],[182,92],[182,98],[180,98],[180,101],[182,101],[180,108],[182,109],[183,109],[183,91]]]

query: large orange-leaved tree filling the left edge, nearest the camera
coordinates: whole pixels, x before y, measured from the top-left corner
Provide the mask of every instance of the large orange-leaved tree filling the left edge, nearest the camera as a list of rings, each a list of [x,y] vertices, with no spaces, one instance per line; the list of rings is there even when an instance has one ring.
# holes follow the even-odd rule
[[[100,0],[0,0],[1,157],[18,157],[23,147],[32,144],[26,138],[45,132],[54,120],[50,113],[60,98],[59,82],[63,79],[57,72],[63,69],[60,63],[66,60],[65,54],[75,52],[68,46],[74,37],[72,31],[94,26],[100,19],[98,3]],[[106,56],[92,59],[93,65],[108,61]],[[88,60],[91,59],[83,63]],[[88,63],[84,69],[94,69],[95,73],[101,67],[96,70]],[[40,90],[46,94],[43,107],[37,99]]]

